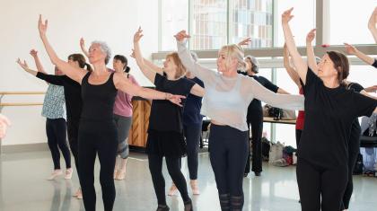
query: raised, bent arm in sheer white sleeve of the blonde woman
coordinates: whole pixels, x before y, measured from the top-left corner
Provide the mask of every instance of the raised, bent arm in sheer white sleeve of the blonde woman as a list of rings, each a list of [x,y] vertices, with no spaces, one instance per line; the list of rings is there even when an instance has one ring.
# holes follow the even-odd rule
[[[214,72],[204,66],[200,66],[191,57],[189,49],[186,48],[186,42],[190,38],[189,34],[187,34],[186,31],[180,31],[174,35],[174,37],[177,40],[178,56],[180,57],[183,66],[206,84]]]

